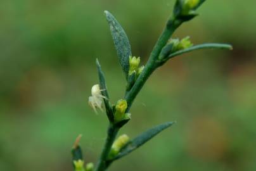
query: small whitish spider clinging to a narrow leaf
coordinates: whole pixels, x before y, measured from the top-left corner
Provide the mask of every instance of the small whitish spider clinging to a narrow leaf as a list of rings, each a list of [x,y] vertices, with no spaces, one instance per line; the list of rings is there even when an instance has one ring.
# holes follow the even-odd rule
[[[98,113],[96,108],[103,111],[103,99],[106,99],[105,96],[101,95],[101,91],[105,91],[105,89],[101,90],[99,88],[99,84],[93,85],[91,88],[91,95],[89,96],[88,103],[93,108],[95,113]]]

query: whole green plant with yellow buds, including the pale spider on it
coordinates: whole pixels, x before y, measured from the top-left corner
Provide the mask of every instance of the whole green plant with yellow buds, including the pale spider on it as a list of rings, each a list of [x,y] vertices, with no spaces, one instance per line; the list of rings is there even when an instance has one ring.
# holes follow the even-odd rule
[[[134,99],[136,99],[148,78],[157,68],[167,63],[170,59],[190,51],[207,48],[232,49],[229,44],[208,43],[193,45],[189,36],[183,39],[172,38],[172,35],[182,23],[198,16],[196,9],[203,2],[205,0],[176,0],[172,16],[167,20],[167,24],[145,65],[141,65],[140,57],[132,56],[131,45],[124,28],[110,12],[105,11],[118,61],[127,83],[126,87],[124,87],[124,97],[118,98],[119,100],[115,103],[110,101],[111,96],[108,94],[105,74],[98,59],[96,60],[99,83],[91,88],[91,96],[89,96],[88,103],[96,113],[98,109],[106,112],[109,122],[107,137],[95,167],[91,162],[84,167],[82,149],[79,146],[80,136],[77,138],[72,148],[72,164],[75,171],[105,171],[113,162],[138,149],[162,132],[162,130],[175,123],[165,122],[157,125],[139,134],[134,139],[130,139],[126,134],[117,138],[120,129],[131,120],[130,110]],[[105,106],[105,110],[103,106]]]

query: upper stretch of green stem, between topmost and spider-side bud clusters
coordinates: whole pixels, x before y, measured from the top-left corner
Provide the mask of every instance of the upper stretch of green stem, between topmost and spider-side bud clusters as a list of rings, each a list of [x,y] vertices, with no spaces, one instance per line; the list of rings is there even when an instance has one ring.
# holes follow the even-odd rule
[[[179,27],[181,23],[182,22],[180,20],[176,20],[175,18],[170,18],[168,20],[167,25],[162,32],[162,35],[160,35],[157,43],[155,44],[155,47],[153,48],[153,51],[150,54],[150,58],[148,59],[148,62],[146,63],[143,72],[141,73],[141,75],[139,75],[131,91],[127,92],[125,96],[128,105],[127,112],[130,110],[132,102],[138,95],[139,91],[141,91],[141,88],[145,84],[146,80],[148,80],[148,77],[150,77],[151,73],[153,73],[154,70],[158,67],[158,63],[156,61],[160,52],[162,51],[163,46],[167,44],[170,36],[172,36],[176,28]]]

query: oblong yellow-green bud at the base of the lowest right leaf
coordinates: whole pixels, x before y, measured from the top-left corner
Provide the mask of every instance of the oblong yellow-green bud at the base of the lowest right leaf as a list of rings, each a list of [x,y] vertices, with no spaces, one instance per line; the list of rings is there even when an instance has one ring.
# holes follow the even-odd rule
[[[129,143],[130,139],[126,134],[118,137],[112,145],[109,158],[115,157],[120,149],[122,149],[127,143]]]

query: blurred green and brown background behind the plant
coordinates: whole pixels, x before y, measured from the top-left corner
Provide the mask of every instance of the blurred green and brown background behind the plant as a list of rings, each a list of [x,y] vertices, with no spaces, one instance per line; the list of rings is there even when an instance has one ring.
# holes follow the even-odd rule
[[[134,56],[146,62],[174,0],[0,1],[0,170],[72,170],[78,134],[95,162],[107,119],[87,105],[97,84],[95,59],[113,103],[124,96],[103,10],[116,16]],[[256,170],[256,1],[208,0],[175,37],[195,44],[227,42],[233,51],[203,50],[157,70],[131,110],[130,137],[166,121],[171,129],[110,170]]]

